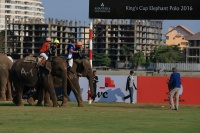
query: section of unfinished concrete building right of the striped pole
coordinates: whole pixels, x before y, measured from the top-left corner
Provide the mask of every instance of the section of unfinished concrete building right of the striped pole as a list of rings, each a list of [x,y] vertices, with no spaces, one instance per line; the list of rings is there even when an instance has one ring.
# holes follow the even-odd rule
[[[151,20],[94,20],[93,58],[106,53],[112,61],[124,62],[125,44],[132,53],[142,51],[146,59],[155,47],[162,45],[162,21]],[[128,57],[130,58],[130,56]]]

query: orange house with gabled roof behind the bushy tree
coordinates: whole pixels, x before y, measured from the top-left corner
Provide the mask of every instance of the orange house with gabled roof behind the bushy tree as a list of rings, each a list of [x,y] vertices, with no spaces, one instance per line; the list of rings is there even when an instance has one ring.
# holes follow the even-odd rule
[[[194,35],[192,31],[182,25],[178,25],[174,28],[168,28],[164,43],[166,43],[166,45],[178,45],[182,50],[184,47],[188,47],[188,40],[185,38],[192,35]]]

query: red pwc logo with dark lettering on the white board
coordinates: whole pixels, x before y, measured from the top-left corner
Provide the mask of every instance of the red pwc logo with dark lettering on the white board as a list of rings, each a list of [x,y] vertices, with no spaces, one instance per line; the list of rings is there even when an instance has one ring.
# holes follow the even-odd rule
[[[115,88],[114,80],[111,80],[110,77],[105,77],[104,83],[104,87],[100,87],[100,89]],[[103,96],[103,98],[108,98],[108,92],[98,92],[97,96],[98,98],[100,98],[101,96]]]

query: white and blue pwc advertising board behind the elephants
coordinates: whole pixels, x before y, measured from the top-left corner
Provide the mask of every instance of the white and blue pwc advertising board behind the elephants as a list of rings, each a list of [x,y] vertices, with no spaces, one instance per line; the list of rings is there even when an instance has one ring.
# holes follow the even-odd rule
[[[98,75],[95,102],[123,102],[122,98],[129,95],[126,91],[127,76],[108,76]],[[83,101],[88,101],[88,80],[86,78],[79,79]],[[137,87],[137,76],[134,76],[134,83]],[[137,102],[137,90],[133,89],[133,102]],[[70,94],[70,100],[76,101],[73,93]],[[125,100],[130,103],[130,99]]]

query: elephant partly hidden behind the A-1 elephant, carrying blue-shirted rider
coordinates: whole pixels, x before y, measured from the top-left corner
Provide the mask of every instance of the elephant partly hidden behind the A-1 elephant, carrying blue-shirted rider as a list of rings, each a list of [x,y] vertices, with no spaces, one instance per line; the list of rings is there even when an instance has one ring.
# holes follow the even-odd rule
[[[82,100],[82,95],[80,93],[79,77],[77,76],[77,73],[81,73],[82,77],[86,77],[89,80],[91,97],[94,96],[93,73],[92,73],[92,68],[91,68],[90,62],[86,58],[81,59],[81,62],[82,63],[79,66],[75,62],[73,62],[73,66],[71,68],[72,72],[67,73],[67,94],[68,94],[68,97],[63,96],[62,106],[68,106],[67,102],[69,101],[69,95],[70,95],[71,91],[73,91],[73,93],[74,93],[74,95],[77,99],[78,107],[84,106],[84,103],[83,103],[83,100]],[[56,81],[56,80],[59,80],[59,79],[54,78],[54,81]],[[57,88],[57,87],[59,87],[59,86],[55,86],[55,88]],[[42,94],[42,93],[40,93],[40,94]],[[38,97],[40,97],[40,98],[44,97],[44,106],[51,106],[49,93],[47,91],[45,91],[44,95],[45,96],[38,96],[37,95],[37,96],[30,97],[28,99],[28,101],[31,101],[29,103],[31,105],[33,105],[35,99],[37,99]],[[38,99],[37,105],[42,104],[41,103],[42,99],[40,99],[40,98]]]

